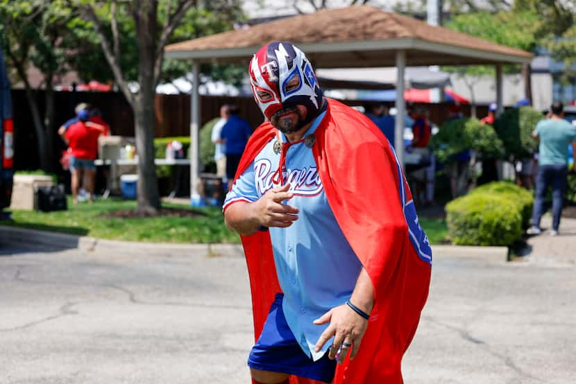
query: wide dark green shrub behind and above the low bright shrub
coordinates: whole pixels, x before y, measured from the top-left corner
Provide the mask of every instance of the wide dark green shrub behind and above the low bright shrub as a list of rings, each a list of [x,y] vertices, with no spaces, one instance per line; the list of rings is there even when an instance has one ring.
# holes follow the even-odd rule
[[[494,128],[474,118],[446,121],[432,137],[431,145],[434,155],[443,163],[468,149],[475,150],[481,157],[498,157],[504,153]]]

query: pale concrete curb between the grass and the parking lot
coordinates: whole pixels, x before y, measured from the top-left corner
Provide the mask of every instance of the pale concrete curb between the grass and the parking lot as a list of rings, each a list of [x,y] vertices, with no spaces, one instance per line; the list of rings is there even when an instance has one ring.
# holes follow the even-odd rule
[[[1,226],[1,243],[42,245],[49,248],[77,249],[84,252],[154,250],[169,254],[206,254],[210,256],[244,257],[240,244],[171,244],[137,243],[135,241],[105,240],[90,236],[76,236],[19,227]],[[477,260],[486,263],[504,263],[508,260],[507,247],[470,247],[462,245],[432,245],[433,259]]]

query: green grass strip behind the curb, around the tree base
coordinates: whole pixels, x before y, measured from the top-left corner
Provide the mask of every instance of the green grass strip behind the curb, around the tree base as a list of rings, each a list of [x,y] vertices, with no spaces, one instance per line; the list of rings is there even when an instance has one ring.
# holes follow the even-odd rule
[[[187,205],[162,204],[162,207],[192,209]],[[119,209],[135,209],[135,201],[111,198],[96,200],[93,204],[73,205],[68,201],[67,211],[37,212],[12,211],[13,221],[0,221],[12,225],[52,232],[63,232],[124,241],[158,243],[239,243],[239,237],[224,225],[220,207],[194,208],[205,216],[194,218],[104,218],[103,215]],[[421,218],[421,225],[430,243],[441,243],[446,238],[446,222]]]

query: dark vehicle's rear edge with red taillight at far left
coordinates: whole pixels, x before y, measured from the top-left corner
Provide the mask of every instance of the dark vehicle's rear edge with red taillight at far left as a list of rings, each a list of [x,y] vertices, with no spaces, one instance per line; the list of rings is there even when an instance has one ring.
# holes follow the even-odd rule
[[[10,207],[14,176],[14,123],[6,63],[0,46],[0,211]]]

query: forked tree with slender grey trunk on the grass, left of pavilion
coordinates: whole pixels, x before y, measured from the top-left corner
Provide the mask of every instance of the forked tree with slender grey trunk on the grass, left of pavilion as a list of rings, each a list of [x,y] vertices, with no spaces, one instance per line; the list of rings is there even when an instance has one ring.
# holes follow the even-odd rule
[[[154,166],[154,97],[155,87],[162,78],[164,46],[175,36],[185,17],[196,19],[192,32],[201,34],[204,21],[202,12],[229,15],[230,8],[238,1],[215,0],[108,0],[98,3],[90,0],[67,0],[69,6],[78,10],[92,23],[104,57],[115,82],[135,114],[136,146],[138,162],[138,209],[157,211],[160,195]],[[232,6],[232,7],[231,7]],[[196,12],[196,13],[195,13]],[[125,33],[133,26],[133,35]],[[180,37],[179,30],[176,36]],[[185,34],[185,32],[181,32]],[[194,36],[194,37],[196,37]],[[126,65],[126,53],[134,52],[137,65]],[[128,82],[135,78],[139,85],[133,94]]]

